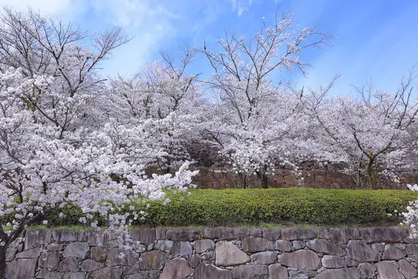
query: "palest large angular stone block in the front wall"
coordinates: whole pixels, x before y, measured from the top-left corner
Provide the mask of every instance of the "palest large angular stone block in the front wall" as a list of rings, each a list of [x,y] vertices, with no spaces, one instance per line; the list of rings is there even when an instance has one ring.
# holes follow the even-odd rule
[[[237,266],[249,262],[249,257],[231,241],[219,241],[215,248],[217,266]]]

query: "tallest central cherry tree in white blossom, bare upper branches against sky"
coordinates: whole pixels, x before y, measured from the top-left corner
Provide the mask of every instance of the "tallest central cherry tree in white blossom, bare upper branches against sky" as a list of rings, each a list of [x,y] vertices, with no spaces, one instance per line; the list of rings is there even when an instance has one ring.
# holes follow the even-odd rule
[[[206,132],[237,172],[257,174],[263,188],[274,167],[292,165],[301,154],[292,148],[299,142],[297,98],[284,92],[280,81],[274,82],[274,74],[297,70],[306,75],[309,65],[300,54],[332,38],[315,26],[300,29],[289,13],[276,17],[274,27],[263,20],[254,36],[226,33],[218,40],[219,52],[206,45],[203,49],[215,71],[206,84],[217,95],[219,107]]]

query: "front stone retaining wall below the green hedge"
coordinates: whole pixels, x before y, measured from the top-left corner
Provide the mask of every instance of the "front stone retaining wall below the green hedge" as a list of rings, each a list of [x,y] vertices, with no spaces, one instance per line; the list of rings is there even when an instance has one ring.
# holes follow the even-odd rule
[[[418,278],[418,239],[401,227],[131,234],[134,250],[127,252],[101,232],[29,230],[8,250],[6,278]]]

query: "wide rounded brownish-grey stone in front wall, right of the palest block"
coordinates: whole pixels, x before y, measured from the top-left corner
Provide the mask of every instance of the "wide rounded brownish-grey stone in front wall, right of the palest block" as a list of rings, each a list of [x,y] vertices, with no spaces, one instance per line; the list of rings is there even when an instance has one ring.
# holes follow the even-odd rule
[[[281,255],[281,264],[297,269],[318,270],[322,266],[320,258],[311,250],[297,250]]]

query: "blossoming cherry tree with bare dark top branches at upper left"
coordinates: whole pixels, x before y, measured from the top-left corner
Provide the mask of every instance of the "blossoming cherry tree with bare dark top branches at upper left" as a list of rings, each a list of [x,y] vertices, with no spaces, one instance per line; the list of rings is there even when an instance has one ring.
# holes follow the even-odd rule
[[[54,77],[47,91],[34,86],[24,97],[38,121],[58,127],[59,138],[88,121],[97,125],[101,112],[96,108],[104,91],[97,70],[112,50],[127,43],[121,28],[89,36],[54,17],[8,8],[0,22],[0,73],[13,67],[24,77]],[[86,40],[90,48],[82,45]]]

